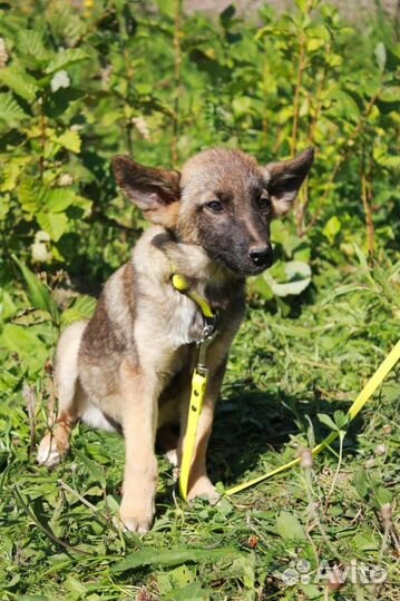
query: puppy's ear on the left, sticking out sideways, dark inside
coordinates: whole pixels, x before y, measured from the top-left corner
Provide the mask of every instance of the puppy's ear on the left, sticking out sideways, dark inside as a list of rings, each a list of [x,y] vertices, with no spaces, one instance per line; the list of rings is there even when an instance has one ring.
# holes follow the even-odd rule
[[[179,173],[155,169],[128,157],[113,158],[115,178],[120,189],[143,210],[153,224],[176,225],[179,200]]]

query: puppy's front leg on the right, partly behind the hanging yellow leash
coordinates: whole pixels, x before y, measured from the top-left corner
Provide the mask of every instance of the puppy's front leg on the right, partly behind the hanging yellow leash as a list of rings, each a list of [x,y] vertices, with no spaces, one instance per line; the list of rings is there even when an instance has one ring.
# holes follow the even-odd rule
[[[209,436],[212,433],[214,421],[214,407],[216,400],[218,398],[222,382],[225,374],[226,359],[219,364],[216,370],[212,370],[209,373],[209,380],[204,398],[203,410],[198,418],[197,434],[195,450],[193,453],[193,461],[191,467],[191,475],[188,482],[187,499],[192,501],[196,496],[206,496],[211,502],[215,502],[219,499],[215,486],[212,484],[206,467],[206,454]],[[183,431],[186,430],[187,422],[187,405],[186,411],[183,414]],[[181,440],[179,456],[185,446],[185,436]]]

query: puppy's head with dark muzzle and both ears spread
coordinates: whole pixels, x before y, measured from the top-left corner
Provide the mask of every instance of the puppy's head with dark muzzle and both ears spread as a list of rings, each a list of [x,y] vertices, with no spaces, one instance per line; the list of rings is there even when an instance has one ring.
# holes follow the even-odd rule
[[[271,266],[272,219],[285,215],[313,162],[310,148],[292,160],[261,166],[238,150],[204,150],[178,171],[115,157],[119,187],[148,219],[245,276]]]

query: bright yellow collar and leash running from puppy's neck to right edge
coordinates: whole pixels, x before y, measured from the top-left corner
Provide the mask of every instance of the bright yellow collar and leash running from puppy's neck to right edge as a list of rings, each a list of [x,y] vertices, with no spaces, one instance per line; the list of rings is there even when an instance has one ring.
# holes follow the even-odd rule
[[[188,415],[187,415],[185,446],[183,450],[182,466],[181,466],[181,474],[179,474],[179,492],[181,492],[182,497],[186,501],[187,486],[188,486],[188,480],[189,480],[191,466],[192,466],[192,460],[193,460],[193,452],[194,452],[195,442],[196,442],[198,418],[202,412],[203,402],[204,402],[204,397],[206,393],[207,381],[208,381],[208,370],[205,365],[205,357],[206,357],[207,347],[213,342],[216,335],[216,329],[215,329],[216,316],[213,313],[212,308],[209,307],[207,300],[201,297],[199,295],[193,293],[189,289],[188,283],[184,276],[178,275],[178,274],[173,274],[172,283],[175,289],[177,289],[182,294],[186,294],[189,298],[192,298],[194,303],[196,303],[201,307],[203,316],[206,318],[206,326],[203,333],[203,337],[197,343],[198,361],[197,361],[197,365],[195,367],[195,371],[192,377],[192,393],[191,393],[191,402],[189,402]],[[348,411],[349,422],[354,420],[354,417],[360,413],[360,411],[367,404],[367,402],[371,398],[371,396],[373,395],[378,386],[380,386],[380,384],[383,382],[386,376],[394,367],[399,358],[400,358],[400,341],[391,349],[391,352],[389,353],[387,358],[381,363],[381,365],[378,367],[373,376],[367,382],[365,386],[362,388],[361,393],[359,394],[354,403],[349,408]],[[319,453],[324,451],[338,436],[339,436],[339,432],[331,432],[331,434],[326,436],[324,441],[322,441],[320,444],[314,446],[314,449],[312,449],[311,453],[313,455],[318,455]],[[263,474],[258,477],[254,477],[253,480],[244,482],[243,484],[238,484],[237,486],[233,486],[232,489],[228,489],[227,491],[225,491],[225,494],[232,495],[232,494],[236,494],[240,491],[244,491],[245,489],[248,489],[250,486],[254,486],[255,484],[258,484],[260,482],[263,482],[264,480],[269,480],[270,477],[276,474],[280,474],[281,472],[285,472],[286,470],[294,467],[294,465],[299,465],[300,462],[301,462],[301,457],[290,461],[289,463],[285,463],[284,465],[276,467],[275,470],[271,470],[266,474]]]

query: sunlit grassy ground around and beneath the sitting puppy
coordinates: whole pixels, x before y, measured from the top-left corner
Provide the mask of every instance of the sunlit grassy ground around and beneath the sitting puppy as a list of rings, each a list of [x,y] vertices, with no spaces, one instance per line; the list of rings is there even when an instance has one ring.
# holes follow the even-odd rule
[[[262,474],[322,440],[330,422],[318,414],[340,423],[334,412],[348,408],[396,342],[397,314],[384,297],[365,283],[339,294],[348,289],[343,284],[359,286],[360,274],[326,270],[315,279],[316,300],[309,292],[285,318],[251,299],[216,415],[214,481],[232,485]],[[36,384],[46,391],[46,376]],[[1,599],[399,599],[394,373],[351,425],[343,449],[335,444],[312,465],[303,452],[302,469],[216,506],[185,505],[160,459],[157,515],[143,538],[111,524],[120,500],[120,437],[79,426],[65,464],[52,472],[35,464],[31,436],[46,423],[41,396],[31,423],[27,394],[0,408]],[[338,573],[322,579],[322,561],[340,569],[351,561],[379,565],[387,579],[363,585],[359,574],[354,585],[349,575],[341,585]],[[283,572],[296,583],[285,583]]]

